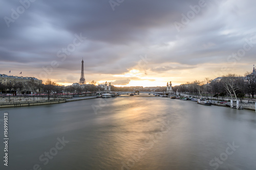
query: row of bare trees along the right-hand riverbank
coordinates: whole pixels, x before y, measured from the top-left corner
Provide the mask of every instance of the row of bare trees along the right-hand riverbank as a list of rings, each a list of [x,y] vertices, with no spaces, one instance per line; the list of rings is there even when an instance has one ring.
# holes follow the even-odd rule
[[[217,80],[205,78],[203,81],[195,80],[179,86],[173,87],[174,91],[196,94],[198,96],[214,96],[224,98],[229,96],[231,100],[244,98],[254,98],[256,93],[256,74],[246,72],[245,76],[227,74]]]

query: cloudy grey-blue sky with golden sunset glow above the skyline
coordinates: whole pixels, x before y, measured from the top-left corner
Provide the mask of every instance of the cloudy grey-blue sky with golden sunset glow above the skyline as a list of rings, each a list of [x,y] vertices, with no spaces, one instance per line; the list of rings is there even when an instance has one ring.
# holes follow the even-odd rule
[[[0,74],[165,86],[252,71],[256,2],[1,1]]]

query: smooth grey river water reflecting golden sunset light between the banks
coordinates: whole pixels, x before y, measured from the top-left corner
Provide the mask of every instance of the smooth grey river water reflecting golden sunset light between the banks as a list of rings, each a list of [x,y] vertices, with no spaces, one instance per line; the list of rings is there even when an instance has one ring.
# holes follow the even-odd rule
[[[256,169],[255,111],[119,96],[0,112],[0,169]]]

